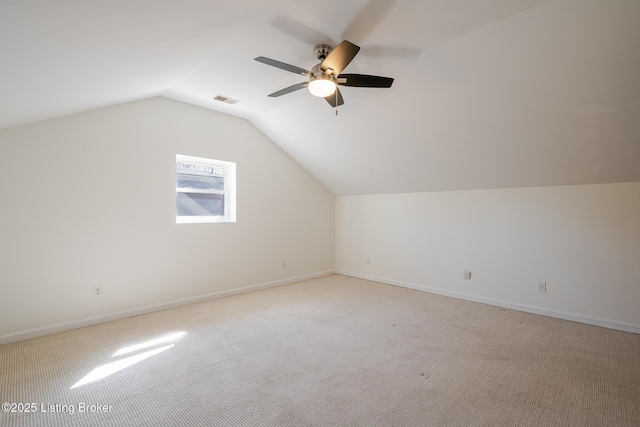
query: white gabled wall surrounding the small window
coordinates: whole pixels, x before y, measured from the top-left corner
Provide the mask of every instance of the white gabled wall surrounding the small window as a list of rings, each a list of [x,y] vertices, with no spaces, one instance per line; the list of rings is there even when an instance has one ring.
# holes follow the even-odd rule
[[[236,223],[175,223],[176,154],[237,163]],[[333,271],[334,196],[246,120],[165,98],[0,131],[0,194],[0,344]]]

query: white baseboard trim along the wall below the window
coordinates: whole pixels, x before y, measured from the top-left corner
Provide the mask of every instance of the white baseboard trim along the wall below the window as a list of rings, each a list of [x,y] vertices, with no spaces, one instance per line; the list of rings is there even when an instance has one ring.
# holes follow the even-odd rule
[[[124,319],[126,317],[152,313],[154,311],[166,310],[168,308],[179,307],[182,305],[195,304],[197,302],[208,301],[216,298],[243,294],[246,292],[257,291],[260,289],[273,288],[275,286],[287,285],[289,283],[300,282],[302,280],[308,280],[308,279],[314,279],[316,277],[328,276],[334,273],[335,273],[334,270],[320,271],[317,273],[305,274],[303,276],[289,277],[287,279],[259,283],[257,285],[244,286],[242,288],[212,292],[209,294],[198,295],[198,296],[188,297],[188,298],[181,298],[178,300],[169,301],[161,304],[147,305],[144,307],[138,307],[130,310],[123,310],[115,313],[109,313],[109,314],[89,317],[85,319],[72,320],[70,322],[56,323],[55,325],[48,325],[48,326],[42,326],[39,328],[27,329],[24,331],[12,332],[9,334],[0,335],[0,345],[10,344],[13,342],[23,341],[31,338],[37,338],[44,335],[54,334],[57,332],[69,331],[71,329],[82,328],[85,326],[96,325],[98,323],[110,322],[112,320]]]

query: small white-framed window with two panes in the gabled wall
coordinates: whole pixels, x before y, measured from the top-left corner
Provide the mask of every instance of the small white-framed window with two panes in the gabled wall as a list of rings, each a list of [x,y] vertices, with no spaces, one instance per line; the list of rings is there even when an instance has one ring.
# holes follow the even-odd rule
[[[235,222],[236,164],[176,155],[176,223]]]

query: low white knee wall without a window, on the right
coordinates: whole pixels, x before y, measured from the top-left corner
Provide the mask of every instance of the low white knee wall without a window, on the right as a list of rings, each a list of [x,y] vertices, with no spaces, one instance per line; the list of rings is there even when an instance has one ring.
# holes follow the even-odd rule
[[[338,197],[336,271],[640,333],[640,183]]]

